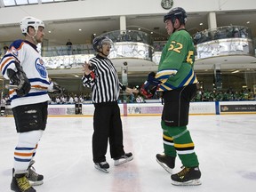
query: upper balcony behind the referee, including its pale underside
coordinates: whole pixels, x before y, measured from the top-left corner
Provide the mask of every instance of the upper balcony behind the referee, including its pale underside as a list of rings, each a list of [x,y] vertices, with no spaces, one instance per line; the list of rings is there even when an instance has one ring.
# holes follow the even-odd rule
[[[154,48],[151,37],[142,31],[117,30],[101,36],[108,36],[113,41],[113,47],[108,58],[112,60],[117,71],[121,71],[124,62],[128,64],[130,71],[156,70],[157,66],[153,60]],[[73,69],[70,73],[76,72],[76,68],[82,68],[84,61],[94,57],[92,44],[75,44],[71,48],[66,45],[43,47],[42,55],[44,63],[49,69]],[[56,70],[50,74],[58,73]],[[68,73],[68,71],[64,72]]]

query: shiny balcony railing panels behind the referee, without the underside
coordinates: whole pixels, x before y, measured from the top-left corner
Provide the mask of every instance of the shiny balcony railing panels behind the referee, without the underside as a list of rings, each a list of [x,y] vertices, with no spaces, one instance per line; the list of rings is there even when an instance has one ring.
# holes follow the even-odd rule
[[[108,36],[114,42],[109,53],[110,59],[152,60],[154,52],[152,39],[145,32],[116,30],[101,36]],[[81,68],[84,60],[90,60],[95,53],[92,44],[48,46],[43,47],[41,52],[47,68]]]

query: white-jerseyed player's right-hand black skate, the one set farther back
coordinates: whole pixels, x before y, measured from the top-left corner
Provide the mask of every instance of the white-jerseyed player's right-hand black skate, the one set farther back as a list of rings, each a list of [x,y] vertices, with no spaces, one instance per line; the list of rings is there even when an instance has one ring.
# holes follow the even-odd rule
[[[28,166],[28,173],[26,174],[26,177],[28,178],[31,186],[42,185],[44,183],[44,176],[36,173],[35,168],[32,166],[33,164],[35,164],[34,160],[32,160]]]

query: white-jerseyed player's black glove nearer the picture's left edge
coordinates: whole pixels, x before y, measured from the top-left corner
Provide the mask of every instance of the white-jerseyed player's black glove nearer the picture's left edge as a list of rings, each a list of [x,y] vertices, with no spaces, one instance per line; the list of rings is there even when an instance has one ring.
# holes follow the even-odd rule
[[[10,78],[12,84],[17,85],[17,95],[23,97],[28,94],[31,89],[31,84],[23,71],[20,63],[15,61],[15,66],[17,68],[17,72],[15,72],[12,68],[7,69],[7,76]]]

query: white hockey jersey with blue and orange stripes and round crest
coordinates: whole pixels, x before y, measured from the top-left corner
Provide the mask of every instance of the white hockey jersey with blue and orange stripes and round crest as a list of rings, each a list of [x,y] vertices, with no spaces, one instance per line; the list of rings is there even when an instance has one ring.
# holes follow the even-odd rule
[[[17,40],[10,45],[10,49],[1,60],[0,68],[4,78],[9,79],[7,76],[7,69],[12,68],[17,71],[14,60],[20,62],[31,87],[39,87],[47,90],[52,88],[53,84],[48,78],[48,73],[44,65],[44,60],[39,52],[36,50],[36,45],[28,41]],[[10,82],[12,84],[12,82]],[[15,90],[9,91],[12,108],[20,105],[35,104],[50,100],[46,91],[36,91],[31,89],[24,97],[19,97]]]

